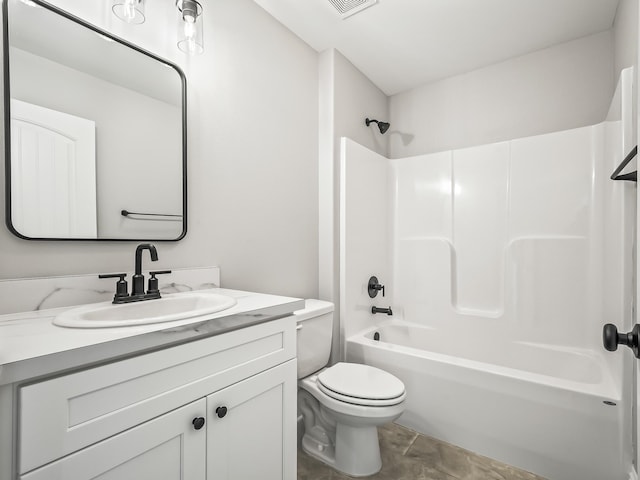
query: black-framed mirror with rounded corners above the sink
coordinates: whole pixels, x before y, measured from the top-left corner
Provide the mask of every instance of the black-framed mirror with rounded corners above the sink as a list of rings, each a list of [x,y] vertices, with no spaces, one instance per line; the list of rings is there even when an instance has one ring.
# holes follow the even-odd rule
[[[39,0],[3,0],[3,8],[11,231],[29,239],[182,238],[180,69]]]

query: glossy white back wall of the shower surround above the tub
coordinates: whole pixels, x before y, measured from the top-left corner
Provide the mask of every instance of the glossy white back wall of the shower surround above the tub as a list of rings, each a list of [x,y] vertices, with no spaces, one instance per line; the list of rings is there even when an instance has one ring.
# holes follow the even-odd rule
[[[596,347],[601,125],[391,160],[393,278],[404,317]],[[600,161],[600,160],[598,160]]]

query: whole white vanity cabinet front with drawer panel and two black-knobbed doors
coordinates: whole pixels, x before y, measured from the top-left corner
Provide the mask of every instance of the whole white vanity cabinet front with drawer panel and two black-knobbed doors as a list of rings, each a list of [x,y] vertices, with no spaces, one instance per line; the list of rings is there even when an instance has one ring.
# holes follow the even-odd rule
[[[296,478],[293,317],[16,390],[20,480]]]

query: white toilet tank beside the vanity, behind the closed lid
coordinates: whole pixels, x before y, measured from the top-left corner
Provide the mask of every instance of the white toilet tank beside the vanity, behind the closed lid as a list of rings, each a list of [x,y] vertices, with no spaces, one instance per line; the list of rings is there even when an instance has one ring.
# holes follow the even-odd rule
[[[329,363],[333,333],[333,303],[305,300],[305,308],[293,312],[296,317],[298,378],[317,372]]]

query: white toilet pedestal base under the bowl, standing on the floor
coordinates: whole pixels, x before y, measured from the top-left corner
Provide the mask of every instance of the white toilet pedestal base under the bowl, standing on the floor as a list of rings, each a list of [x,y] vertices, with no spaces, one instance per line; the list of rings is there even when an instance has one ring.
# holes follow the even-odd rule
[[[366,477],[382,468],[378,429],[375,426],[336,425],[335,446],[305,433],[302,449],[310,456],[352,477]]]

